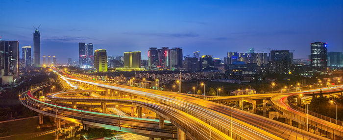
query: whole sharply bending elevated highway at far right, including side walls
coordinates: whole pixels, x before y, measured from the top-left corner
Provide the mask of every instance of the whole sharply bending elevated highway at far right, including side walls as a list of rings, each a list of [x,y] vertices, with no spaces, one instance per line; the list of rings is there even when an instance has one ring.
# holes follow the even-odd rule
[[[297,107],[290,102],[290,99],[296,98],[297,103],[301,103],[301,98],[305,96],[318,95],[319,90],[322,90],[323,94],[332,94],[337,92],[343,92],[342,86],[330,87],[330,88],[321,88],[307,90],[298,93],[287,94],[275,94],[271,97],[272,107],[279,112],[280,117],[286,117],[289,120],[289,124],[292,124],[292,121],[298,123],[298,127],[304,130],[308,130],[314,134],[324,136],[326,138],[334,140],[342,140],[343,138],[343,127],[342,121],[339,121],[338,124],[335,124],[335,119],[320,116],[316,113],[310,113],[312,115],[306,114],[306,110]],[[320,117],[320,118],[319,118]],[[300,126],[301,124],[301,126]],[[307,129],[307,124],[309,125]],[[335,137],[335,138],[334,138]]]

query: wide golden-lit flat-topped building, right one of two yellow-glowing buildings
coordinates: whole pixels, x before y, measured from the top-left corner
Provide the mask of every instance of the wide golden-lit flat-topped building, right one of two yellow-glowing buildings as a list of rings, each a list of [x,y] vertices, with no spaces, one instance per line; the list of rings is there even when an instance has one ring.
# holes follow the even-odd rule
[[[124,52],[124,68],[141,68],[141,51]]]

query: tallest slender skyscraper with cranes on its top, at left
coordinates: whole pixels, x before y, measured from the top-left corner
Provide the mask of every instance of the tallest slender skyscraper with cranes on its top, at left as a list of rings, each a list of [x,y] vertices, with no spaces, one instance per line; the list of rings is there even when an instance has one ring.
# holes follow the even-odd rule
[[[41,66],[41,34],[37,29],[33,33],[33,65]]]

